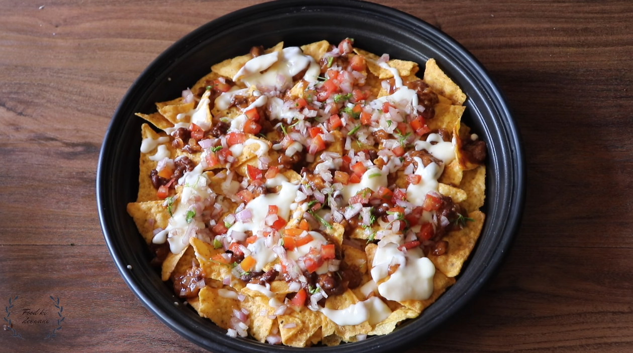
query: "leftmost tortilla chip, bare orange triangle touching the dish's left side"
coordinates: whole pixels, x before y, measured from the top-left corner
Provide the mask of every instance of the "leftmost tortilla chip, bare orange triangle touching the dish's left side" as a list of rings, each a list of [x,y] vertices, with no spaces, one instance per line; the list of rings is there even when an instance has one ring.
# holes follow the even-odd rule
[[[165,229],[168,225],[169,212],[167,208],[163,206],[165,201],[144,201],[144,202],[130,202],[127,204],[127,213],[134,218],[139,233],[145,239],[147,244],[151,244],[154,239],[154,229]],[[149,220],[154,220],[150,224]]]

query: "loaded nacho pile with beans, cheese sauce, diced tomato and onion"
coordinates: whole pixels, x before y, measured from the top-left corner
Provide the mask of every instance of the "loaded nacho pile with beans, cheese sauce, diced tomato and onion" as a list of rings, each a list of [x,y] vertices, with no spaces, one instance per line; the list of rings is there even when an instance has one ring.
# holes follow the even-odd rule
[[[418,78],[353,44],[253,47],[137,114],[128,213],[162,279],[227,335],[385,335],[454,284],[479,237],[486,143],[461,122],[466,95],[434,59]]]

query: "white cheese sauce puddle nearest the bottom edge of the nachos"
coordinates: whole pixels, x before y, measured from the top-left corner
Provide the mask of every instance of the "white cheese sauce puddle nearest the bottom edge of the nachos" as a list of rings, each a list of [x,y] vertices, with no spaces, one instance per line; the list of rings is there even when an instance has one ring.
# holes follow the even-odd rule
[[[319,311],[340,326],[359,325],[365,321],[368,321],[369,325],[376,325],[391,314],[389,306],[378,297],[351,304],[345,309],[319,308]]]

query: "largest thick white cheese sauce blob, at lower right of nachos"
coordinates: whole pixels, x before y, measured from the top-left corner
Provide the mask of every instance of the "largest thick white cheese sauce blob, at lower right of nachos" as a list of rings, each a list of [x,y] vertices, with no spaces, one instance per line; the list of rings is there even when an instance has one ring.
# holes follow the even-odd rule
[[[399,244],[388,242],[376,249],[372,263],[372,278],[376,283],[389,276],[389,265],[398,264],[398,270],[378,285],[380,296],[391,301],[429,299],[433,294],[435,266],[424,257],[422,249],[409,249],[406,255]]]

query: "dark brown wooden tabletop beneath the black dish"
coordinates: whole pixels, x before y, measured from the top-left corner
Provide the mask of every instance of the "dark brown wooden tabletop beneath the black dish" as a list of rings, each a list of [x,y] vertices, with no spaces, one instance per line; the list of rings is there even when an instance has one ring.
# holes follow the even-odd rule
[[[23,336],[0,331],[1,350],[203,351],[118,274],[97,217],[97,156],[116,105],[154,57],[254,3],[0,1],[0,304],[18,296],[9,311]],[[633,7],[380,3],[441,28],[486,66],[527,156],[523,224],[505,264],[408,351],[633,351]],[[29,316],[65,321],[45,339],[53,324],[23,324]]]

